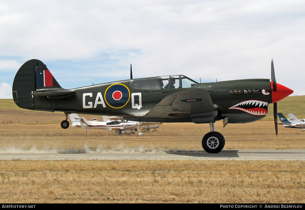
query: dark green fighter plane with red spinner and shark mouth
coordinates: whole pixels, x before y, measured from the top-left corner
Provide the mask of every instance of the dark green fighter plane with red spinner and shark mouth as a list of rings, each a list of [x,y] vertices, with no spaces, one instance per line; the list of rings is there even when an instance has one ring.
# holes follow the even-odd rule
[[[170,83],[170,85],[167,85]],[[166,88],[165,88],[166,87]],[[268,114],[274,103],[275,132],[278,134],[277,102],[293,91],[277,84],[271,62],[269,79],[243,79],[198,83],[184,75],[132,78],[63,89],[40,60],[29,60],[13,81],[13,99],[25,109],[62,111],[61,126],[69,127],[70,113],[120,116],[131,121],[209,123],[211,132],[202,139],[206,152],[218,153],[225,144],[214,122],[248,123]]]

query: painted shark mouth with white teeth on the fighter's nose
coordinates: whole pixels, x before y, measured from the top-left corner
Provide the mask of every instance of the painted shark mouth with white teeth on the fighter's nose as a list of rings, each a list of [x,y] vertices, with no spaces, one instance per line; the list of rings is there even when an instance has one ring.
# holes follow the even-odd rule
[[[268,114],[268,110],[266,109],[267,106],[268,103],[264,101],[247,100],[240,102],[229,109],[241,110],[254,116],[266,116]]]

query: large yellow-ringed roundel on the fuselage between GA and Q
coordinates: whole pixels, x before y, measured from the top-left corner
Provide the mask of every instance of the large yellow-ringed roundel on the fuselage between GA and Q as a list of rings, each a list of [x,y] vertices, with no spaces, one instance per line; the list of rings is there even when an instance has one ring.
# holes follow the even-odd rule
[[[105,101],[112,108],[124,107],[129,99],[130,91],[126,85],[116,83],[110,85],[105,91]]]

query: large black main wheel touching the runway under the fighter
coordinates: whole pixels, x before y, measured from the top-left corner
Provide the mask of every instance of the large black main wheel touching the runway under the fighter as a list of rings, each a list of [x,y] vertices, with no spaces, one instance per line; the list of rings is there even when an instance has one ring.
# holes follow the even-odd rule
[[[219,132],[208,132],[203,136],[202,147],[208,153],[219,153],[224,148],[224,136]]]

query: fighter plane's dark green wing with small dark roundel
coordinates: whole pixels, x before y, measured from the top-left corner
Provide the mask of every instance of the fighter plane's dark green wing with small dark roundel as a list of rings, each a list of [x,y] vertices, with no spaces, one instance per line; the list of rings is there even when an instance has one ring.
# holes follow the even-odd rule
[[[191,89],[166,96],[144,118],[206,116],[206,113],[211,113],[214,110],[215,107],[208,91]]]

